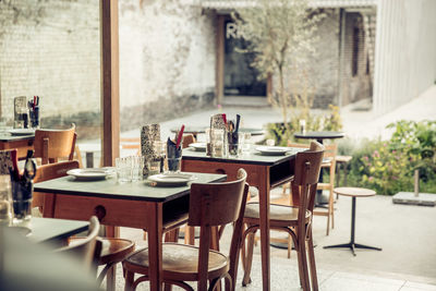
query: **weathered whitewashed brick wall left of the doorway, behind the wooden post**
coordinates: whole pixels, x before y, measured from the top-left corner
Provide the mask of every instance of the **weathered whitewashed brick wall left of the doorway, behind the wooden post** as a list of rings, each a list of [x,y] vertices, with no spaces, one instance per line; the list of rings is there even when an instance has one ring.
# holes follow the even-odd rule
[[[119,4],[122,128],[210,104],[215,17],[178,0]],[[98,124],[98,1],[0,1],[1,117],[12,119],[13,97],[21,95],[41,96],[44,126],[74,119]]]

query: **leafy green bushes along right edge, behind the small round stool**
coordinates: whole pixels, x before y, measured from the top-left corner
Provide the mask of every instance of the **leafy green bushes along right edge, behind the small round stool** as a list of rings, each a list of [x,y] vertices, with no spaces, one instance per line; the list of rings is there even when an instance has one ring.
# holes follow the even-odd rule
[[[349,183],[392,195],[413,191],[414,169],[420,170],[421,192],[436,193],[436,122],[399,121],[388,141],[365,141],[352,151]]]

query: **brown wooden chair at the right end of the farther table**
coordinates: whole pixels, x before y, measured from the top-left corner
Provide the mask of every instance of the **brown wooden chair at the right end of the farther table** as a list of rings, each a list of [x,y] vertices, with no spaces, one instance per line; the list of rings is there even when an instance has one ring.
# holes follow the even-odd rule
[[[313,290],[318,290],[312,239],[312,214],[323,153],[323,145],[313,142],[310,150],[296,154],[295,175],[291,182],[291,190],[292,199],[298,206],[271,204],[269,208],[270,229],[286,231],[292,238],[298,253],[300,283],[305,291],[311,289],[306,255],[308,255]],[[247,203],[244,222],[247,229],[243,234],[243,242],[247,238],[247,248],[246,252],[242,252],[246,254],[246,257],[242,259],[244,267],[242,284],[246,286],[251,282],[250,272],[253,260],[254,233],[259,229],[258,203]],[[242,247],[245,251],[245,245]]]

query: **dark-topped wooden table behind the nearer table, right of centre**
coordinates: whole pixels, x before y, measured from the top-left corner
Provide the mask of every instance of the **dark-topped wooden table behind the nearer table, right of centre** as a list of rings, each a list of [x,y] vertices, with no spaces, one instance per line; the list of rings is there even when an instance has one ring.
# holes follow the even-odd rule
[[[237,179],[240,168],[247,172],[246,182],[259,193],[262,279],[266,291],[270,290],[269,191],[292,180],[296,153],[305,149],[288,148],[278,154],[274,150],[262,153],[256,148],[259,147],[228,157],[210,157],[206,151],[186,148],[182,154],[182,171],[223,173],[229,180]]]

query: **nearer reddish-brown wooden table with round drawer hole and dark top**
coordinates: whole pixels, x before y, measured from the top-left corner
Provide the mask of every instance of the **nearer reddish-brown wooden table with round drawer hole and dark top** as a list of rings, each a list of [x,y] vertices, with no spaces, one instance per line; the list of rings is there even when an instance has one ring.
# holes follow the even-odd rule
[[[186,173],[192,182],[226,181],[226,174]],[[150,290],[162,289],[162,234],[184,223],[189,213],[190,183],[161,186],[146,181],[120,183],[114,178],[86,181],[77,177],[63,177],[34,185],[45,195],[43,216],[48,218],[88,220],[98,217],[100,223],[118,237],[116,227],[147,231],[149,250]],[[114,286],[114,270],[108,280]]]

